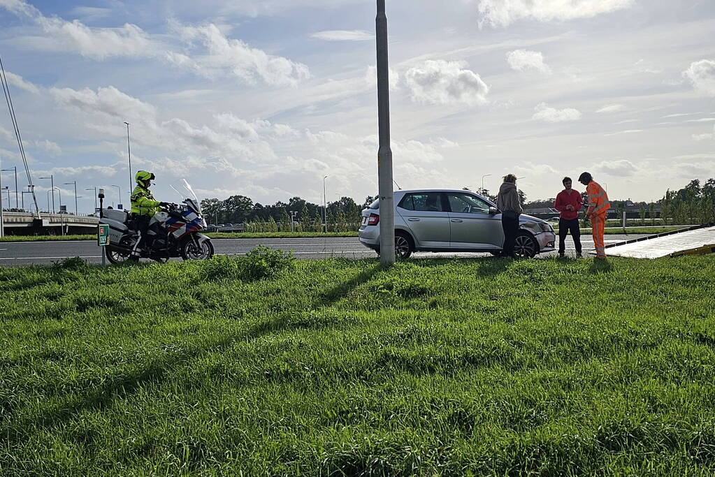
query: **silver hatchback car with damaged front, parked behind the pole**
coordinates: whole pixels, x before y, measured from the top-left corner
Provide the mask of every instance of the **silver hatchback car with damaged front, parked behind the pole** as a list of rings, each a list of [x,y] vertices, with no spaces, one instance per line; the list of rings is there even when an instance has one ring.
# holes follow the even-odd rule
[[[395,192],[395,253],[413,251],[490,252],[504,243],[501,212],[496,204],[471,191],[420,189]],[[380,203],[363,209],[360,242],[380,253]],[[516,236],[517,256],[553,251],[556,235],[548,222],[521,215]]]

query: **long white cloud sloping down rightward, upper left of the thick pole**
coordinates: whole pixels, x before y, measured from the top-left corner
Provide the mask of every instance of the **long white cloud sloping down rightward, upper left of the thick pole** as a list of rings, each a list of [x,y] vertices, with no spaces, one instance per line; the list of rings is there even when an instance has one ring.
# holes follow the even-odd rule
[[[204,51],[192,58],[170,54],[169,61],[179,66],[188,65],[209,75],[217,72],[233,74],[248,84],[255,84],[260,79],[275,86],[295,86],[310,77],[305,64],[269,55],[238,39],[229,39],[215,24],[184,26],[181,34],[190,46],[195,46],[194,42],[198,41]]]

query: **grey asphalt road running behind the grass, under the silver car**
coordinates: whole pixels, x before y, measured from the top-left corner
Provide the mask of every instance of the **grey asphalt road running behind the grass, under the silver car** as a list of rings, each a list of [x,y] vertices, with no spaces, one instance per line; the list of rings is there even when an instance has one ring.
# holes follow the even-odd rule
[[[607,235],[606,243],[636,239],[642,235]],[[558,241],[558,239],[557,239]],[[216,239],[216,253],[221,255],[244,255],[251,248],[265,245],[270,248],[291,250],[296,258],[376,258],[377,254],[365,248],[356,238],[349,239]],[[590,236],[582,236],[583,251],[593,250]],[[566,240],[566,251],[575,254],[571,237]],[[0,266],[47,265],[63,258],[79,256],[90,263],[102,263],[102,255],[96,241],[48,241],[48,242],[0,242]],[[556,252],[541,256],[552,256]],[[415,258],[446,258],[451,256],[473,257],[479,253],[430,253],[419,252]],[[488,254],[486,254],[488,255]]]

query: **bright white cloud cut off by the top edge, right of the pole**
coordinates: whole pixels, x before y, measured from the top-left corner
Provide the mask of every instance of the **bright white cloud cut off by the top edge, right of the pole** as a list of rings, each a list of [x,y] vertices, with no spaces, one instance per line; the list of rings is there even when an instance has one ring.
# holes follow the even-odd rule
[[[509,26],[522,19],[565,21],[628,8],[633,0],[479,0],[480,26]]]

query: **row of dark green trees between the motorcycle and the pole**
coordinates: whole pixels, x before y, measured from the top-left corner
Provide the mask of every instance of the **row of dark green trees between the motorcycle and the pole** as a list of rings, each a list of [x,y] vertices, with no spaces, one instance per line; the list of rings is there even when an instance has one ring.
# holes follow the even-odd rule
[[[212,224],[244,224],[246,231],[322,231],[327,224],[328,231],[358,230],[360,212],[371,204],[375,197],[368,196],[362,205],[350,197],[329,202],[323,221],[323,207],[300,197],[292,197],[287,202],[263,205],[253,202],[247,196],[230,196],[223,201],[204,199],[201,208],[207,221]]]

